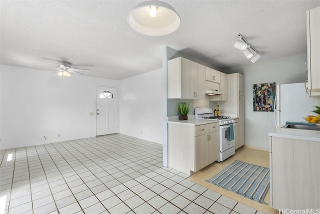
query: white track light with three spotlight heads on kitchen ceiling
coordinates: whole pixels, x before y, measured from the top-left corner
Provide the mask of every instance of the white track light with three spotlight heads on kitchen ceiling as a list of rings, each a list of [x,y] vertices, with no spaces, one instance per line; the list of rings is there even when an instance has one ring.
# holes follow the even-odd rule
[[[256,49],[253,48],[240,33],[238,33],[238,36],[239,40],[235,41],[233,46],[236,49],[241,50],[244,56],[247,59],[250,59],[252,63],[256,62],[261,57],[258,51],[256,51]]]

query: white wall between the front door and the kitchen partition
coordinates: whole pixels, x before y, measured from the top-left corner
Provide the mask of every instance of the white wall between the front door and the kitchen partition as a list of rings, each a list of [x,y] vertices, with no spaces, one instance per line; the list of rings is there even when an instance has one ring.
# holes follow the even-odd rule
[[[119,81],[120,133],[162,144],[164,86],[162,69]]]

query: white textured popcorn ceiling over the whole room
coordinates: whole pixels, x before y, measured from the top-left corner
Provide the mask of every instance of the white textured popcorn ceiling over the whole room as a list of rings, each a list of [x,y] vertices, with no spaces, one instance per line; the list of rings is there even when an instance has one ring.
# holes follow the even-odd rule
[[[141,0],[0,0],[0,63],[43,70],[67,60],[90,69],[85,75],[122,79],[161,68],[162,48],[169,46],[223,69],[251,63],[233,47],[237,33],[260,52],[259,61],[306,53],[305,11],[320,5],[320,0],[163,1],[179,13],[181,25],[157,37],[127,24]]]

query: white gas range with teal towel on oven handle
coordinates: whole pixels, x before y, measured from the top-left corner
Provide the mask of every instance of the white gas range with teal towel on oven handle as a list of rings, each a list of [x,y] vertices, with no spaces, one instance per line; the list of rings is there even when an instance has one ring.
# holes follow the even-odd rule
[[[219,122],[219,159],[222,161],[235,153],[233,123],[235,118],[229,116],[214,116],[210,107],[197,107],[194,109],[194,118],[210,119]]]

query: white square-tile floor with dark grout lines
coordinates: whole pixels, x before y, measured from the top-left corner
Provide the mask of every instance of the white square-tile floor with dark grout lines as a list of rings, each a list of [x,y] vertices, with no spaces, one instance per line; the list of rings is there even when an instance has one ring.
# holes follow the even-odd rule
[[[1,150],[0,161],[0,213],[263,213],[191,181],[205,170],[187,179],[162,167],[162,145],[123,134]]]

